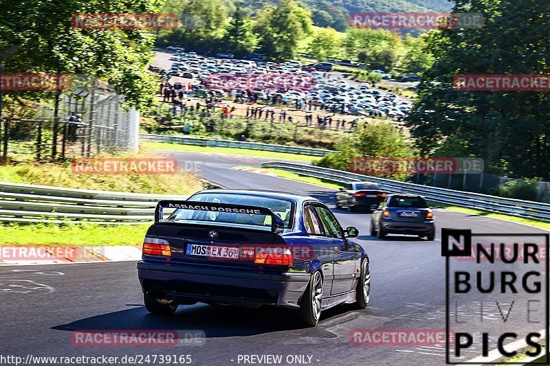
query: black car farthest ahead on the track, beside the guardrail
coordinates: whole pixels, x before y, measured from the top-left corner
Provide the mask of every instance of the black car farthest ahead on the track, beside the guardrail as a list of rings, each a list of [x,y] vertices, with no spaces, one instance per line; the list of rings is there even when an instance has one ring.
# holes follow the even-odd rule
[[[371,209],[386,197],[380,185],[371,182],[351,182],[340,188],[334,196],[336,207],[346,207],[348,211],[356,208]]]

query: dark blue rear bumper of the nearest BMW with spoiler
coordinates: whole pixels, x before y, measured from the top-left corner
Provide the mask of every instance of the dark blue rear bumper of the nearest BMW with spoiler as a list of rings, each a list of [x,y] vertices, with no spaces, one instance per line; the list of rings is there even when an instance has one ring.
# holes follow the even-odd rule
[[[144,292],[177,299],[228,304],[266,304],[299,308],[309,273],[256,273],[185,264],[137,262]]]

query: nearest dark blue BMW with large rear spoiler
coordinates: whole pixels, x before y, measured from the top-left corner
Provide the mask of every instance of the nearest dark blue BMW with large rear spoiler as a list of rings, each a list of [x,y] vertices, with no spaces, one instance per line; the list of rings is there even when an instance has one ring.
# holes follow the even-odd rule
[[[283,306],[316,325],[321,310],[369,303],[369,258],[349,240],[356,236],[306,196],[206,190],[161,201],[137,263],[145,306],[154,314],[198,301]]]

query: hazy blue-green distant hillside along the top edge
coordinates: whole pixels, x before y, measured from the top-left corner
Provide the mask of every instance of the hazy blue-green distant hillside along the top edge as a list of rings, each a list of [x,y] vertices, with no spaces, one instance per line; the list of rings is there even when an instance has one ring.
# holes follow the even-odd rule
[[[248,14],[276,0],[233,0]],[[300,0],[309,10],[315,25],[333,27],[342,32],[349,27],[349,14],[354,12],[449,12],[448,0]]]

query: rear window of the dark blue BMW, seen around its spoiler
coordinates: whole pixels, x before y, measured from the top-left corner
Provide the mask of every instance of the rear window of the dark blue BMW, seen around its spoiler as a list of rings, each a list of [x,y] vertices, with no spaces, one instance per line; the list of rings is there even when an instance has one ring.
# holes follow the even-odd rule
[[[267,207],[274,214],[278,215],[285,228],[291,225],[292,201],[281,198],[254,196],[250,194],[227,194],[227,193],[199,193],[191,196],[188,201],[209,202],[209,203],[228,203],[231,205],[242,205],[250,207]],[[248,214],[238,212],[212,212],[195,209],[176,209],[168,217],[168,220],[174,221],[195,221],[195,222],[222,222],[236,225],[252,225],[261,227],[271,227],[272,216],[265,214]]]

